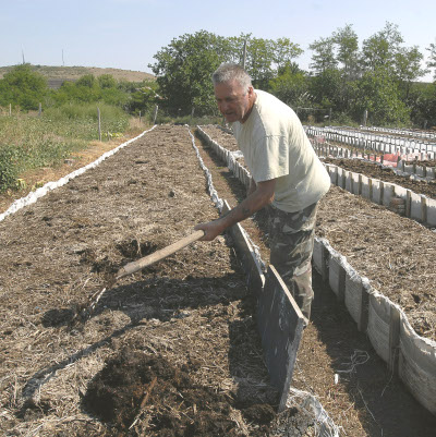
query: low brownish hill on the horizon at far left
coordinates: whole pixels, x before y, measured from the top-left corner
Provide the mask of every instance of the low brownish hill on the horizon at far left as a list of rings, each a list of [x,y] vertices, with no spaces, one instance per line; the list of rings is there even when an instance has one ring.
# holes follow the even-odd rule
[[[37,71],[47,77],[50,87],[57,88],[64,81],[76,81],[85,74],[93,74],[98,77],[102,74],[110,74],[117,81],[142,82],[153,80],[155,76],[142,71],[121,70],[121,69],[100,69],[98,66],[50,66],[50,65],[31,65],[32,70]],[[0,78],[11,71],[14,65],[0,66]]]

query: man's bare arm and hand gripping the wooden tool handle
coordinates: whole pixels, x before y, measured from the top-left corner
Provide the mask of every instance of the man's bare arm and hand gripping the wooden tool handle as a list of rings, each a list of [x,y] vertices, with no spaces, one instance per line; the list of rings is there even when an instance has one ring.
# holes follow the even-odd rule
[[[202,238],[202,241],[214,240],[227,228],[245,220],[264,206],[269,205],[274,201],[275,187],[275,179],[258,182],[255,184],[255,190],[237,207],[225,214],[219,219],[209,221],[208,223],[197,224],[194,229],[202,229],[205,231],[205,236]]]

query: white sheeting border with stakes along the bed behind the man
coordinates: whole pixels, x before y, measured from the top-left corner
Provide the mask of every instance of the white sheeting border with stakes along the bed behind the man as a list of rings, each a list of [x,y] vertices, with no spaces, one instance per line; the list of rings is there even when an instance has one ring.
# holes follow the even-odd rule
[[[197,126],[197,131],[207,144],[222,157],[234,175],[245,183],[246,169],[234,160],[229,150],[213,141],[199,126]],[[343,172],[346,171],[343,170]],[[351,173],[351,175],[342,174],[342,184],[348,181],[349,187],[355,191],[354,183],[351,181],[354,181],[353,174],[358,173]],[[358,175],[358,183],[359,181],[362,181],[362,178]],[[374,183],[374,190],[361,189],[361,193],[373,193],[373,191],[383,193],[385,185],[383,182],[380,184],[374,189],[376,185]],[[371,185],[371,182],[367,185]],[[384,195],[378,194],[378,198],[383,201]],[[368,279],[361,277],[348,264],[347,258],[335,251],[327,240],[315,238],[313,262],[323,279],[327,280],[328,278],[330,288],[338,299],[344,302],[359,330],[368,336],[374,350],[387,363],[388,368],[400,377],[423,406],[436,415],[436,341],[419,336],[411,327],[404,312],[372,288]]]

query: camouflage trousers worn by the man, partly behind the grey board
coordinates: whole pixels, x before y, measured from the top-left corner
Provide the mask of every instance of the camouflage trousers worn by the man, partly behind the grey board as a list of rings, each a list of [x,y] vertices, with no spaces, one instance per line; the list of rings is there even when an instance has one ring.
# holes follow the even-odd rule
[[[313,301],[312,253],[317,203],[286,213],[268,206],[270,264],[274,265],[303,316],[311,318]]]

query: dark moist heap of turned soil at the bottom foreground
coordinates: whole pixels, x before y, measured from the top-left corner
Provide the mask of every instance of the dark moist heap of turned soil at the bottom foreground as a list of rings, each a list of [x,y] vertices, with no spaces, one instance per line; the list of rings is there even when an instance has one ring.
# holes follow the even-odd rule
[[[182,371],[161,356],[121,351],[89,384],[85,408],[112,423],[117,433],[129,433],[136,425],[135,417],[144,414],[150,436],[238,435],[228,397],[191,379],[190,373],[199,366],[190,362]],[[275,413],[267,406],[270,422]],[[251,420],[258,422],[254,414]],[[134,433],[145,432],[144,425]]]

